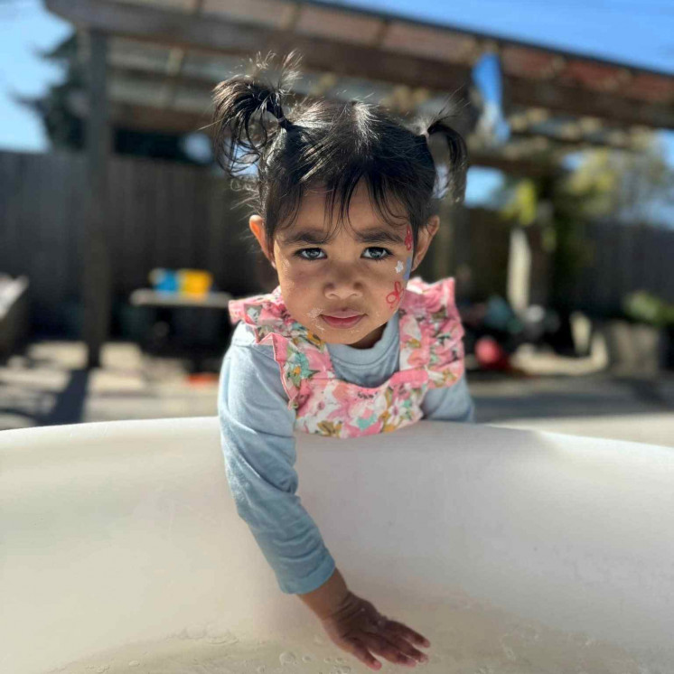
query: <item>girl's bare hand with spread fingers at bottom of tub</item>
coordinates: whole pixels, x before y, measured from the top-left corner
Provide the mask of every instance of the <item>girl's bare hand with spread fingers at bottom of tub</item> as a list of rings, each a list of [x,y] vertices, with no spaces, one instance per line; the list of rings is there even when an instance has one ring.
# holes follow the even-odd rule
[[[427,656],[412,645],[417,643],[427,648],[431,645],[428,640],[406,625],[388,620],[370,602],[351,592],[340,608],[321,623],[334,643],[370,669],[381,667],[370,651],[408,667],[416,667],[415,660],[428,661]]]

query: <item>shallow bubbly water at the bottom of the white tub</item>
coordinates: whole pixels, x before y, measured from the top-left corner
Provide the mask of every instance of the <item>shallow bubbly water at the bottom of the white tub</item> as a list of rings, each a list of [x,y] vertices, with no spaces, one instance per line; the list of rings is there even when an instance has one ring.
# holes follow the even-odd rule
[[[437,606],[411,607],[405,621],[431,641],[415,668],[376,655],[379,672],[420,674],[671,674],[663,653],[626,651],[581,632],[524,621],[467,595]],[[400,619],[401,616],[391,616]],[[671,654],[669,654],[670,657]],[[320,626],[259,640],[213,623],[186,627],[163,641],[138,642],[60,663],[63,674],[364,674],[372,672],[338,649]],[[46,672],[44,673],[46,674]]]

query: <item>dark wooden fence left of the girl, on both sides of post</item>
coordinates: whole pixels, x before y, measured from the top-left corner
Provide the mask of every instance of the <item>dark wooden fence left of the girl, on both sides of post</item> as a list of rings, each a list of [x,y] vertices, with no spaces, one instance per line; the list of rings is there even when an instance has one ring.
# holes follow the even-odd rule
[[[80,309],[85,172],[80,154],[0,153],[0,270],[30,278],[38,331],[72,332]],[[221,175],[115,156],[108,180],[107,246],[117,304],[149,287],[154,267],[208,269],[215,285],[234,295],[265,286],[261,261],[243,238],[241,195]]]

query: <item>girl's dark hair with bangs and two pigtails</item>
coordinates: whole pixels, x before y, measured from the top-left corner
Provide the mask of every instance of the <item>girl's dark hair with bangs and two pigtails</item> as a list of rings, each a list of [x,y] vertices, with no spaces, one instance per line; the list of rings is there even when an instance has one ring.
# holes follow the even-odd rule
[[[292,109],[286,98],[295,79],[297,56],[281,64],[275,86],[263,82],[273,54],[257,57],[257,75],[237,75],[213,89],[213,147],[218,164],[242,177],[248,201],[265,220],[267,241],[292,224],[305,190],[327,191],[326,211],[339,206],[348,220],[351,196],[365,179],[375,207],[395,224],[393,202],[404,206],[417,233],[450,194],[463,201],[466,146],[444,112],[411,123],[388,110],[359,101],[304,99]],[[436,170],[431,136],[444,136],[444,170]],[[257,174],[251,168],[257,164]],[[443,175],[444,174],[444,175]],[[399,222],[399,220],[398,220]]]

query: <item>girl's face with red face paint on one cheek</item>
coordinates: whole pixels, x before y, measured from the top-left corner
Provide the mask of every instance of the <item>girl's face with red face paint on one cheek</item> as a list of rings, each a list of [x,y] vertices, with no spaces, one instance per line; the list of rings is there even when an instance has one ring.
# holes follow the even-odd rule
[[[428,231],[419,232],[414,251],[405,211],[396,214],[396,227],[382,220],[367,185],[360,183],[351,199],[351,227],[341,224],[332,239],[318,243],[329,227],[324,194],[311,192],[304,196],[293,225],[276,233],[273,251],[265,246],[263,220],[251,217],[250,229],[276,268],[295,321],[328,343],[367,349],[379,341],[438,226],[434,216]],[[341,314],[354,317],[335,320]]]

